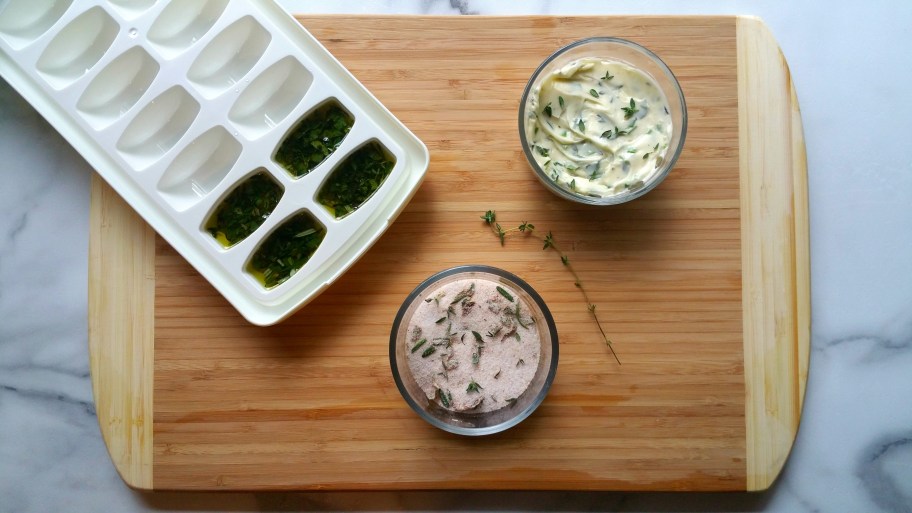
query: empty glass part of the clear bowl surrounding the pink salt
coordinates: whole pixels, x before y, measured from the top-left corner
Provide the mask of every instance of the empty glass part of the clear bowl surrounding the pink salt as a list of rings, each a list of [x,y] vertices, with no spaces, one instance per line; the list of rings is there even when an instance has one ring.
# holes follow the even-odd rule
[[[526,391],[515,404],[499,410],[484,413],[454,412],[441,407],[436,401],[429,400],[427,395],[412,376],[408,364],[408,327],[412,315],[418,306],[433,297],[440,287],[463,279],[489,280],[504,284],[530,306],[531,317],[539,326],[541,350],[538,368]],[[499,433],[509,429],[535,411],[544,401],[557,372],[558,342],[557,329],[551,312],[545,302],[528,283],[519,277],[498,269],[483,265],[453,267],[441,271],[422,282],[402,303],[390,333],[390,367],[393,379],[405,402],[415,410],[422,419],[432,426],[450,433],[468,436],[481,436]]]

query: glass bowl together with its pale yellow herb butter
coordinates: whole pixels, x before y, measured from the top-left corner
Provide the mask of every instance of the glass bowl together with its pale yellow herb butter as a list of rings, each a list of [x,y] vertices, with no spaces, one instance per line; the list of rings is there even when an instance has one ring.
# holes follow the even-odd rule
[[[624,39],[571,43],[532,74],[519,136],[536,176],[558,196],[592,205],[638,198],[684,147],[687,106],[668,66]]]

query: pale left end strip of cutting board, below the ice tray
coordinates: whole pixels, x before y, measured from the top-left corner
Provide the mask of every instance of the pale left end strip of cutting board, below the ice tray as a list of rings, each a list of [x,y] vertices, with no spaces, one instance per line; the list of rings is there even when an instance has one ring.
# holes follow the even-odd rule
[[[98,425],[132,488],[152,489],[155,232],[98,175],[89,209],[89,367]]]

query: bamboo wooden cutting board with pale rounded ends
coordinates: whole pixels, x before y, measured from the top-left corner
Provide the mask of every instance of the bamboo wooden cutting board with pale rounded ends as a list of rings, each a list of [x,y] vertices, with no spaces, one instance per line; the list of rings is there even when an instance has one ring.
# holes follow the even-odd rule
[[[786,62],[744,17],[314,16],[310,29],[431,150],[427,179],[345,276],[271,328],[246,323],[100,179],[89,344],[105,442],[144,489],[761,490],[778,475],[808,366],[807,185]],[[533,69],[588,36],[658,53],[690,113],[677,167],[610,208],[533,177],[517,106]],[[552,231],[557,257],[501,247],[479,216]],[[390,375],[401,301],[444,268],[490,264],[557,323],[551,393],[483,439],[420,420]]]

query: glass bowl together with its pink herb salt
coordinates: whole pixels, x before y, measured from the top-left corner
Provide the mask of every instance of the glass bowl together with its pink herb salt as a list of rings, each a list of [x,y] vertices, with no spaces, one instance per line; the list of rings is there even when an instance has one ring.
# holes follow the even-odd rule
[[[472,295],[460,300],[467,290]],[[498,331],[501,322],[506,327]],[[418,336],[416,326],[425,327]],[[534,353],[537,364],[531,356],[517,357]],[[426,279],[402,303],[390,333],[390,367],[405,402],[432,426],[460,435],[489,435],[522,422],[545,399],[557,360],[557,329],[541,296],[517,276],[489,266],[453,267]],[[462,393],[466,374],[471,381]],[[479,405],[461,407],[460,401],[471,398],[481,398]]]

